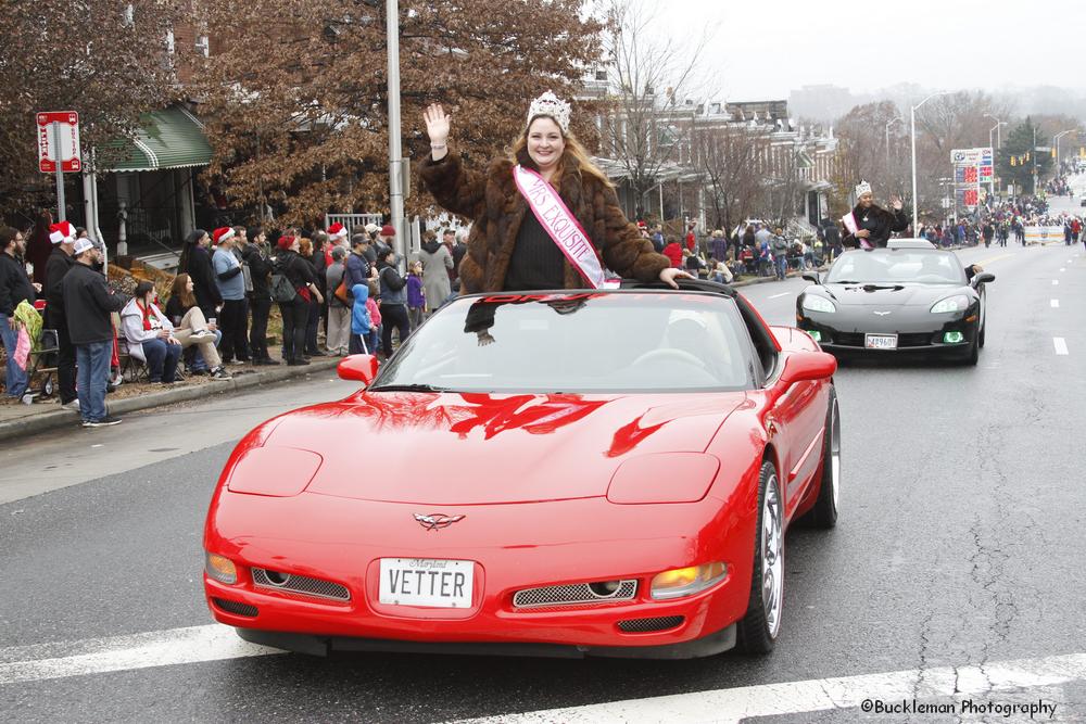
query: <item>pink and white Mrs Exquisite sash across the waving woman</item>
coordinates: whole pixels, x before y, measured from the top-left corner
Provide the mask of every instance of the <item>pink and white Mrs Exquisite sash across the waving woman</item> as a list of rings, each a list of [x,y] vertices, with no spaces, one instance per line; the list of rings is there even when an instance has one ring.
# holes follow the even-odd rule
[[[617,288],[619,280],[608,278],[589,234],[566,207],[554,187],[535,172],[520,165],[513,168],[513,179],[540,226],[592,288]]]

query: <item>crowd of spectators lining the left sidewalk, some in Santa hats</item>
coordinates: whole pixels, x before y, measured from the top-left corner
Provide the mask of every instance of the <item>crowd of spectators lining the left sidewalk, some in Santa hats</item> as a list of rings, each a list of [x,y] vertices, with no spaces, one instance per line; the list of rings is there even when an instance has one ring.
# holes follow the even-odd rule
[[[349,237],[333,224],[311,234],[287,229],[273,244],[261,227],[197,229],[163,303],[151,281],[126,290],[111,284],[100,245],[66,221],[51,226],[45,281],[34,283],[24,234],[0,229],[4,392],[31,402],[27,370],[42,329],[55,330],[59,402],[85,427],[121,421],[108,414],[105,395],[123,381],[123,359],[150,383],[169,385],[182,374],[229,380],[229,365],[302,366],[353,353],[384,358],[454,296],[467,251],[450,229],[441,241],[427,232],[417,256],[401,259],[394,234],[391,226],[369,225]],[[278,359],[268,343],[274,305],[282,320]]]

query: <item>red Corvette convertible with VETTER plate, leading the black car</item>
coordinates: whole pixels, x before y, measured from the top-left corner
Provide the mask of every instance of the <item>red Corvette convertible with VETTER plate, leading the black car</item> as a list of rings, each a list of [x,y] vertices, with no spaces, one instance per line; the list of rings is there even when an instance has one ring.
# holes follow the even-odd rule
[[[836,363],[682,287],[464,296],[344,359],[363,390],[223,470],[215,619],[317,655],[771,650],[784,533],[837,518]]]

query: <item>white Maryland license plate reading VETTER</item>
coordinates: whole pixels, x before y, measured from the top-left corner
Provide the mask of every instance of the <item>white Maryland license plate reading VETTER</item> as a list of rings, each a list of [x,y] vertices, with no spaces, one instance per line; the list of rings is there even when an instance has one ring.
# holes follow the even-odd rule
[[[382,558],[379,600],[393,606],[471,608],[475,562]]]

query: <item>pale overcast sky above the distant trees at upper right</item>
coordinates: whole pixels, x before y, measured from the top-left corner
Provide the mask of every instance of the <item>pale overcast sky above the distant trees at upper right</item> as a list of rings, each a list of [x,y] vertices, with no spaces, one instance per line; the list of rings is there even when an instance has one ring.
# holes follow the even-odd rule
[[[642,1],[674,38],[716,26],[699,65],[725,100],[818,84],[1086,92],[1086,0]]]

